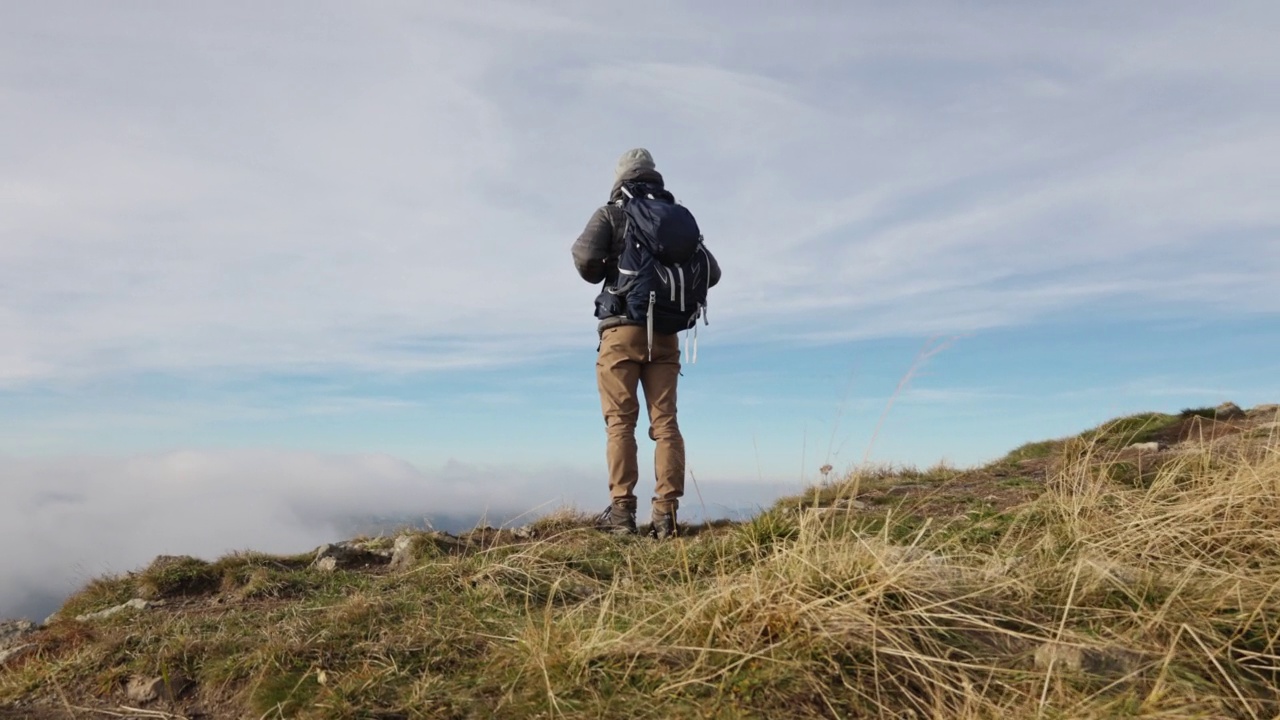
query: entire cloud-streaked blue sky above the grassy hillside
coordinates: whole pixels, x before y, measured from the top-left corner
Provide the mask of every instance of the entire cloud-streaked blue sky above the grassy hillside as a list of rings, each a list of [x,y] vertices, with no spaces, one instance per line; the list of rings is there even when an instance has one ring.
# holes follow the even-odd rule
[[[1270,3],[6,4],[0,533],[84,530],[0,565],[36,588],[0,616],[47,568],[600,503],[568,246],[632,146],[724,268],[681,386],[710,512],[1280,400],[1276,31]]]

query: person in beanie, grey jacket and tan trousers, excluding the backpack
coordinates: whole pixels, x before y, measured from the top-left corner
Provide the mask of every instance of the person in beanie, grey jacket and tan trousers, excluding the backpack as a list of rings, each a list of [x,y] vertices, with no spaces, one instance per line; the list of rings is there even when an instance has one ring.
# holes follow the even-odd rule
[[[621,200],[632,183],[644,187],[659,200],[675,202],[666,191],[662,174],[654,167],[653,155],[643,147],[628,150],[618,159],[609,204],[604,205],[586,223],[586,229],[573,243],[573,264],[589,283],[614,287],[618,282],[618,259],[623,249],[626,217]],[[709,263],[708,287],[719,282],[721,272],[716,259],[707,252]],[[644,388],[649,411],[649,437],[657,443],[654,474],[657,487],[652,501],[652,527],[649,534],[659,539],[676,534],[676,509],[685,495],[685,441],[676,423],[676,380],[680,377],[680,341],[675,334],[657,333],[650,337],[644,320],[628,318],[625,311],[600,318],[600,347],[595,361],[595,377],[604,410],[607,457],[609,465],[608,510],[600,515],[602,529],[617,534],[636,533],[636,496],[639,480],[636,464],[636,419],[640,415],[637,384]]]

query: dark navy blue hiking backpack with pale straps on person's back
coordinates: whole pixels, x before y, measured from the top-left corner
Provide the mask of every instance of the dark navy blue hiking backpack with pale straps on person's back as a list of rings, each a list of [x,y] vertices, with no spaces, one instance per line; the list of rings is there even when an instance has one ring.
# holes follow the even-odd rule
[[[595,316],[625,315],[643,322],[652,357],[655,332],[676,334],[696,328],[699,318],[707,323],[710,261],[698,220],[671,193],[646,183],[626,183],[618,205],[627,223],[618,278],[596,299]]]

